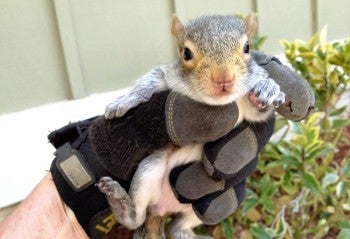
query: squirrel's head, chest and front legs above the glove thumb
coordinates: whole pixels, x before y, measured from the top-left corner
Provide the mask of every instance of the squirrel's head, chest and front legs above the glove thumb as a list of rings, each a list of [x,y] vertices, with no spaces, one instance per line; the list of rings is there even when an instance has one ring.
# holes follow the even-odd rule
[[[210,105],[236,101],[242,113],[240,119],[265,120],[274,107],[261,114],[251,103],[278,106],[284,102],[284,94],[251,59],[249,37],[256,26],[253,14],[244,23],[236,17],[204,16],[186,27],[174,15],[171,33],[178,46],[179,59],[139,78],[128,94],[107,106],[105,117],[121,117],[130,108],[147,102],[155,92],[171,89]],[[250,100],[248,93],[254,96]]]

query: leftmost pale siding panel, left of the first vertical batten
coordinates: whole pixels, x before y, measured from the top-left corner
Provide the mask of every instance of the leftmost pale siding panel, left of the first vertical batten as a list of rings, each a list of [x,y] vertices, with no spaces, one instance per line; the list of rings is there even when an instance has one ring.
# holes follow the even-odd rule
[[[70,97],[51,1],[0,1],[0,113]]]

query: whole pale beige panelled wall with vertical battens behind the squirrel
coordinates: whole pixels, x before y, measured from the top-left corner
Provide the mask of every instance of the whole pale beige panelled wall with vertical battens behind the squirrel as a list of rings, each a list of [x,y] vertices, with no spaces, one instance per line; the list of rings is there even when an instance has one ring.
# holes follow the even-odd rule
[[[263,50],[328,25],[349,37],[348,0],[1,0],[0,113],[131,86],[175,56],[171,15],[259,16]]]

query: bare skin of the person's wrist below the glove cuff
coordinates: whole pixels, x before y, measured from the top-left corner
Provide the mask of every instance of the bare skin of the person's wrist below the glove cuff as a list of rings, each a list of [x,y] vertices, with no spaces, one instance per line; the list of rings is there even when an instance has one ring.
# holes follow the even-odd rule
[[[0,238],[88,239],[74,213],[61,200],[48,173],[30,195],[0,223]]]

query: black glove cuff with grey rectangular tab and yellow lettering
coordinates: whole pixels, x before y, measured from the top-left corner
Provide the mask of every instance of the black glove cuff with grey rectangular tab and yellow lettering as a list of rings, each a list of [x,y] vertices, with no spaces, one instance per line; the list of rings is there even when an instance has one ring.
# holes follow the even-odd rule
[[[65,204],[72,209],[79,224],[93,239],[102,239],[121,230],[105,195],[94,185],[96,179],[109,175],[99,163],[88,140],[93,120],[69,124],[49,135],[57,148],[50,172]],[[123,187],[129,182],[118,179]]]

